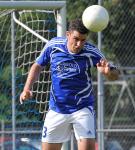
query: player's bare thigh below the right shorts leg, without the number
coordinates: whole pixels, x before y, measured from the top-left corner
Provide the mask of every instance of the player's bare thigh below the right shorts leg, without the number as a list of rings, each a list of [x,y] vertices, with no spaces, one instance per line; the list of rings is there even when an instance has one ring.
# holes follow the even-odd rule
[[[77,145],[78,150],[95,150],[95,139],[80,139]]]

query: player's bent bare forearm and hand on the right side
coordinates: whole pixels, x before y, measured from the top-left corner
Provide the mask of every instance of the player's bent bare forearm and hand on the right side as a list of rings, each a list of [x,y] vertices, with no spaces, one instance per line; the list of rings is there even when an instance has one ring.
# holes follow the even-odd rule
[[[119,78],[120,71],[116,67],[111,66],[105,59],[101,59],[100,62],[97,63],[97,69],[104,74],[108,80],[114,81]]]

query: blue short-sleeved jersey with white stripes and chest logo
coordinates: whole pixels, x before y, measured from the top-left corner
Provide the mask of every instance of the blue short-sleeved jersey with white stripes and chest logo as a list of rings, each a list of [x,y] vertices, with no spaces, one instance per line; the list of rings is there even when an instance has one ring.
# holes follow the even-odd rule
[[[90,68],[96,66],[104,55],[90,43],[85,43],[78,54],[67,49],[66,38],[50,40],[36,63],[50,63],[52,86],[49,109],[70,114],[84,107],[93,107],[94,96]]]

